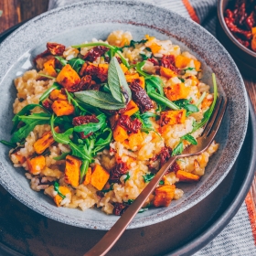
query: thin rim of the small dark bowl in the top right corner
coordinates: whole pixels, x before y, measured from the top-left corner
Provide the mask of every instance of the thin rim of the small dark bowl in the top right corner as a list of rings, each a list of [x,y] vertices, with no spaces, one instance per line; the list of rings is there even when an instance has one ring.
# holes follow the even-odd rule
[[[246,48],[245,46],[243,46],[242,44],[240,44],[240,42],[232,35],[232,33],[229,30],[229,27],[227,27],[226,22],[224,20],[224,0],[219,0],[218,3],[218,17],[219,17],[219,23],[220,26],[222,27],[222,29],[225,31],[226,35],[229,37],[229,39],[241,50],[245,51],[246,53],[248,53],[249,55],[251,55],[251,57],[256,58],[256,52],[252,51],[249,48]]]

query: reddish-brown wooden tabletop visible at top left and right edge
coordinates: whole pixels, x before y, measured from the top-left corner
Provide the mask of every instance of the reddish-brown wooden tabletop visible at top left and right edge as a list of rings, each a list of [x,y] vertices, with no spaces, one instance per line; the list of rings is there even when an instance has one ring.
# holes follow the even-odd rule
[[[3,11],[2,16],[0,16],[0,33],[2,33],[21,21],[46,12],[48,0],[0,0],[0,10]],[[253,108],[256,110],[256,80],[244,77],[244,83]],[[254,177],[246,201],[247,206],[250,207],[249,210],[256,212],[256,177]],[[256,222],[251,224],[256,226]]]

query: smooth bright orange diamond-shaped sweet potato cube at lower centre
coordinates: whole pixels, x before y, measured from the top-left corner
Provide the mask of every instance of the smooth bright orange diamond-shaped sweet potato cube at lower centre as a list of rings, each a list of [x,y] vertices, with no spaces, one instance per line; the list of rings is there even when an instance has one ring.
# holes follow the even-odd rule
[[[101,190],[107,183],[110,174],[101,166],[94,165],[92,174],[91,174],[91,185]]]

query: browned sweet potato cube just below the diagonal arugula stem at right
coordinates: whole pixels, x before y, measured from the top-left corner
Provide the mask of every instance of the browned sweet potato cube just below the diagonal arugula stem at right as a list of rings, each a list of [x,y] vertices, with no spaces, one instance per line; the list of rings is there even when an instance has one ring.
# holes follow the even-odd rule
[[[186,120],[186,110],[178,111],[165,111],[161,112],[160,123],[163,125],[173,125],[177,123],[185,123]]]

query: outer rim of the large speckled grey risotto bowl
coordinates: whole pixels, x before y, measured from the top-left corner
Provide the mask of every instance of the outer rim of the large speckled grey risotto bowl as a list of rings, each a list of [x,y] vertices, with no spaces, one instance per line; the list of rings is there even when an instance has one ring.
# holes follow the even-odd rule
[[[101,2],[102,2],[102,3],[108,2],[108,3],[112,3],[112,4],[118,3],[118,4],[120,4],[120,5],[127,5],[127,4],[129,4],[129,5],[140,5],[140,6],[142,6],[142,7],[144,7],[144,6],[152,6],[152,7],[156,8],[156,9],[158,9],[158,10],[171,13],[171,14],[173,14],[173,15],[175,15],[175,16],[179,16],[180,18],[189,21],[189,23],[192,23],[194,26],[198,27],[199,29],[203,29],[203,30],[204,30],[204,33],[207,34],[208,37],[212,37],[212,39],[216,42],[216,44],[218,44],[219,47],[221,46],[221,44],[219,43],[219,41],[218,41],[214,36],[212,36],[207,30],[205,30],[203,27],[200,27],[197,23],[193,22],[192,20],[190,20],[190,19],[188,19],[188,18],[186,18],[186,17],[184,17],[184,16],[180,16],[179,14],[176,14],[176,13],[174,13],[173,11],[168,10],[168,9],[165,9],[165,8],[163,8],[163,7],[159,7],[159,6],[156,6],[156,5],[145,4],[145,3],[142,3],[142,2],[138,3],[138,2],[135,2],[135,1],[132,1],[132,0],[125,1],[125,2],[123,2],[123,1],[118,1],[118,0],[112,0],[112,1],[104,1],[104,0],[101,0]],[[44,13],[44,14],[42,14],[42,15],[40,15],[40,16],[37,16],[37,17],[33,18],[32,20],[29,20],[25,25],[23,25],[22,27],[17,28],[16,31],[15,31],[12,35],[10,35],[9,37],[7,37],[6,39],[8,39],[8,38],[10,39],[10,38],[12,38],[12,37],[16,37],[16,34],[19,33],[23,28],[29,26],[30,24],[33,24],[35,21],[38,21],[38,20],[44,18],[45,16],[53,15],[54,13],[59,12],[60,10],[65,10],[65,9],[68,9],[68,8],[71,8],[71,7],[75,7],[75,6],[77,6],[77,5],[91,5],[91,4],[95,5],[95,3],[98,4],[99,2],[90,0],[90,1],[87,1],[86,3],[85,3],[85,2],[79,2],[79,3],[74,3],[74,4],[71,4],[71,5],[65,5],[65,6],[61,6],[61,7],[59,7],[59,8],[53,9],[53,10],[47,12],[47,13]],[[139,24],[135,24],[135,25],[139,25]],[[157,30],[159,31],[159,28],[157,28],[157,27],[152,27],[152,28],[157,29]],[[166,35],[168,35],[168,33],[169,33],[168,31],[164,31],[164,32],[165,32]],[[4,42],[5,42],[5,41],[4,41]],[[0,46],[3,46],[3,45],[5,44],[4,42],[1,43]],[[222,46],[221,46],[221,48],[222,48],[223,52],[225,52],[225,54],[227,54],[227,56],[229,56],[228,51],[227,51],[225,48],[223,48]],[[237,71],[238,79],[240,80],[240,83],[243,85],[242,91],[243,91],[243,93],[246,94],[245,86],[244,86],[243,80],[241,79],[239,69],[236,67],[234,61],[230,58],[230,56],[229,56],[229,61],[230,61],[231,63],[233,63],[234,69]],[[238,155],[239,155],[239,153],[240,153],[240,149],[241,149],[242,143],[243,143],[243,141],[244,141],[245,134],[246,134],[246,131],[247,131],[247,126],[248,126],[248,114],[249,114],[249,109],[248,109],[248,98],[246,97],[246,95],[245,95],[245,104],[246,104],[246,106],[247,106],[247,108],[246,108],[246,113],[245,113],[245,120],[246,120],[245,122],[246,122],[246,124],[245,124],[245,126],[244,126],[244,131],[243,131],[243,133],[241,134],[241,140],[242,140],[242,142],[241,142],[241,144],[240,144],[240,146],[239,146],[239,148],[238,148],[236,154],[234,155],[234,159],[232,159],[232,161],[229,162],[229,168],[225,171],[225,175],[224,175],[224,176],[221,176],[221,177],[219,178],[218,185],[219,185],[219,183],[224,179],[224,177],[227,176],[227,174],[228,174],[228,172],[229,172],[231,166],[234,164],[236,158],[238,157]],[[1,179],[0,179],[0,182],[1,182]],[[4,183],[4,184],[3,184],[3,183]],[[44,216],[46,216],[46,217],[48,217],[48,218],[50,218],[50,219],[54,219],[54,220],[57,220],[57,221],[59,221],[59,222],[62,222],[62,223],[68,224],[68,225],[77,226],[77,227],[80,227],[80,228],[87,228],[87,229],[95,229],[94,227],[95,227],[95,225],[96,225],[96,226],[97,226],[97,229],[106,230],[106,229],[109,229],[109,226],[112,224],[112,221],[111,221],[110,224],[108,224],[109,226],[108,226],[107,224],[100,223],[100,222],[97,222],[97,221],[96,221],[96,222],[94,222],[94,223],[96,223],[96,224],[95,224],[95,225],[94,225],[94,224],[92,225],[90,221],[89,221],[89,222],[86,222],[86,221],[81,220],[81,219],[76,219],[76,218],[75,218],[75,219],[72,219],[71,217],[69,217],[69,219],[64,219],[64,220],[63,220],[63,217],[65,216],[65,214],[59,214],[58,217],[57,217],[57,216],[54,215],[54,213],[50,214],[50,213],[48,213],[47,211],[45,211],[46,209],[50,211],[50,208],[48,208],[47,206],[42,206],[41,208],[34,207],[34,206],[33,206],[33,202],[27,203],[27,200],[26,200],[25,198],[19,197],[18,194],[16,194],[17,191],[14,191],[13,189],[10,191],[10,189],[6,188],[7,185],[5,184],[5,182],[3,182],[3,183],[2,183],[3,187],[5,187],[5,189],[8,190],[9,193],[11,193],[11,194],[12,194],[14,197],[16,197],[19,201],[21,201],[21,202],[22,202],[23,204],[25,204],[27,207],[32,208],[33,210],[37,211],[38,213],[40,213],[40,214],[42,214],[42,215],[44,215]],[[195,206],[200,200],[202,200],[203,198],[207,197],[208,194],[211,193],[211,192],[213,191],[213,189],[215,189],[216,187],[217,187],[217,185],[210,187],[210,188],[208,189],[208,193],[206,193],[204,196],[201,196],[201,197],[197,198],[197,200],[195,200],[193,203],[188,204],[189,207],[185,208],[185,210],[187,210],[188,208],[191,208],[191,207]],[[178,210],[175,215],[177,215],[177,214],[179,214],[179,213],[181,213],[181,212],[183,212],[183,211],[184,211],[184,210]],[[157,222],[160,222],[160,221],[163,221],[163,220],[169,219],[169,218],[170,218],[169,216],[168,216],[168,217],[166,217],[166,216],[163,217],[163,216],[160,216],[160,215],[159,215],[159,216],[157,216],[157,217],[155,218],[154,223],[152,223],[152,220],[149,220],[148,218],[141,219],[141,220],[143,220],[143,221],[140,221],[140,219],[136,219],[137,221],[135,221],[135,223],[132,222],[132,223],[128,226],[127,229],[134,229],[134,228],[139,228],[139,227],[144,227],[144,226],[152,225],[152,224],[155,224],[155,223],[157,223]],[[82,223],[81,223],[81,222],[82,222]]]

